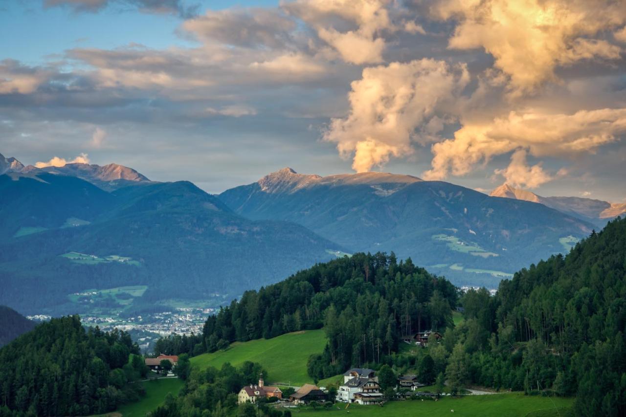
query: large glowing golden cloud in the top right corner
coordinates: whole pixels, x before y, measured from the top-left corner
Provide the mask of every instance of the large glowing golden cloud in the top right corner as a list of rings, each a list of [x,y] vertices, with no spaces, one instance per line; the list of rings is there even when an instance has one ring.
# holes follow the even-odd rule
[[[445,0],[432,11],[458,22],[449,48],[485,49],[513,95],[555,81],[558,66],[620,58],[619,46],[594,36],[626,21],[623,2],[611,0]]]

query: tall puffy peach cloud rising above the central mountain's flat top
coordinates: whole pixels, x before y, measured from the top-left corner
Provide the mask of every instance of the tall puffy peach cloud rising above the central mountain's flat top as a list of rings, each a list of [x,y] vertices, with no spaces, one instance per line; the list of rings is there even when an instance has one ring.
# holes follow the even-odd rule
[[[354,152],[357,172],[409,155],[419,138],[415,130],[432,130],[433,120],[441,129],[437,115],[454,107],[467,82],[464,66],[434,59],[365,68],[361,80],[352,82],[349,115],[332,119],[324,140],[336,142],[342,157]]]

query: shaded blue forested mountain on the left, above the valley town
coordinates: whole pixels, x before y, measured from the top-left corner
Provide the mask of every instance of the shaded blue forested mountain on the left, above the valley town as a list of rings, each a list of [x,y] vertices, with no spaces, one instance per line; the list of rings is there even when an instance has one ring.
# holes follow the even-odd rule
[[[343,250],[297,224],[245,219],[190,182],[106,192],[76,177],[9,173],[0,192],[11,195],[0,202],[0,303],[21,311],[86,312],[68,296],[135,285],[148,287],[136,309],[175,298],[215,305]]]

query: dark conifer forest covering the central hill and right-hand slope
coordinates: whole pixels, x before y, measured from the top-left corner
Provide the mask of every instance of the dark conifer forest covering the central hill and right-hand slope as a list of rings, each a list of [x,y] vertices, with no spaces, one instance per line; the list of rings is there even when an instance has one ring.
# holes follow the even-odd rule
[[[464,321],[454,326],[451,309]],[[566,255],[461,294],[443,278],[393,254],[356,254],[318,264],[244,294],[205,323],[202,337],[162,346],[215,351],[233,341],[324,327],[328,344],[309,359],[314,380],[350,366],[418,373],[425,383],[576,396],[575,413],[626,413],[626,219],[609,222]],[[403,334],[433,329],[440,343],[398,353]],[[194,345],[193,347],[191,345]],[[190,349],[190,350],[189,350]]]

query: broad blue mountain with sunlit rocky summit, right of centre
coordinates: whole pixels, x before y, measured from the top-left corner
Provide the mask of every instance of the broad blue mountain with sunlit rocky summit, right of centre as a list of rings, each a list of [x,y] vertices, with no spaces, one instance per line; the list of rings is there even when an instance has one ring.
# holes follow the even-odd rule
[[[408,175],[303,175],[285,168],[219,196],[250,219],[295,222],[352,252],[391,252],[456,284],[497,286],[593,225],[521,200]],[[569,240],[568,240],[569,241]]]

